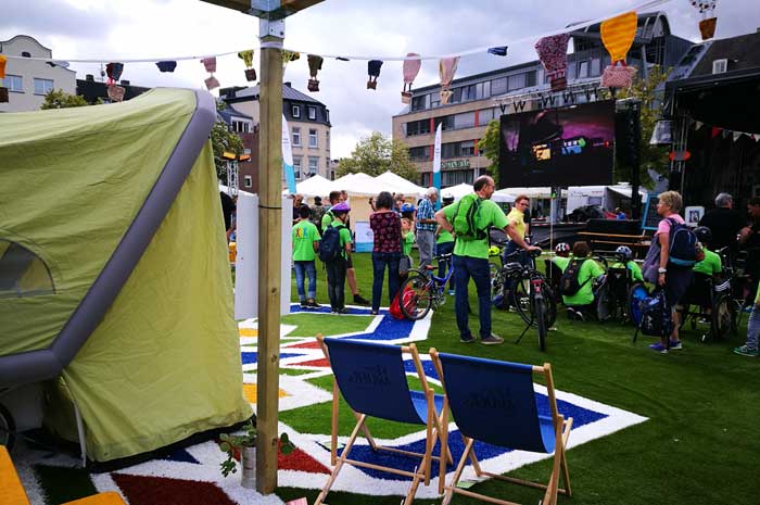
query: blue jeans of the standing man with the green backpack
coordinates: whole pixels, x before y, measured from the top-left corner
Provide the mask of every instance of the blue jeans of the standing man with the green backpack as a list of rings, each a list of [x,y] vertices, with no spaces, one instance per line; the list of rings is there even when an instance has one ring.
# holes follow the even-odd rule
[[[478,314],[480,317],[480,337],[491,336],[491,270],[489,261],[481,257],[454,255],[454,312],[459,336],[467,340],[472,338],[467,312],[469,307],[467,286],[470,277],[478,290]]]

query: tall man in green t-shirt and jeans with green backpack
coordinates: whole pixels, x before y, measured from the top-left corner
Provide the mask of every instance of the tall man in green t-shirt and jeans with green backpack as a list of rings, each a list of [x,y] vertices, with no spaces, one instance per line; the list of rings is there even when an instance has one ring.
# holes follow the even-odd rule
[[[478,195],[480,206],[474,216],[474,226],[479,230],[486,231],[482,239],[460,238],[454,244],[454,311],[456,324],[459,329],[459,340],[465,343],[473,342],[467,317],[468,300],[467,286],[470,277],[478,289],[478,307],[480,315],[480,338],[484,344],[499,344],[504,339],[491,332],[491,269],[489,267],[489,237],[487,228],[494,226],[502,228],[509,238],[522,249],[537,250],[528,245],[522,237],[511,227],[504,212],[492,202],[491,195],[496,189],[494,180],[489,176],[480,176],[474,181],[473,189]],[[457,215],[459,204],[448,205],[435,213],[435,219],[441,227],[452,232],[454,217]]]

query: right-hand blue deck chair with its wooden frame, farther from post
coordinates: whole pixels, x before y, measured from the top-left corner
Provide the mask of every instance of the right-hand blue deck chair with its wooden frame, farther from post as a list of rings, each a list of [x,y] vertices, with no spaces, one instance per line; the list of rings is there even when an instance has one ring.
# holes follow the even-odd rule
[[[546,490],[542,502],[544,505],[555,505],[557,492],[570,496],[570,474],[565,447],[572,428],[572,417],[566,420],[557,412],[552,366],[548,363],[544,366],[531,366],[458,356],[439,353],[435,349],[430,350],[430,356],[443,383],[451,413],[465,440],[465,452],[451,482],[445,485],[443,505],[452,501],[454,493],[491,503],[515,505],[512,502],[457,488],[468,457],[478,477],[486,476]],[[543,375],[546,379],[550,416],[539,414],[533,391],[534,373]],[[442,447],[447,447],[447,416],[448,409],[443,413],[441,419],[444,427],[444,432],[441,433]],[[545,454],[554,452],[554,465],[548,484],[483,471],[473,449],[477,440],[518,451]],[[560,470],[565,489],[558,488]]]

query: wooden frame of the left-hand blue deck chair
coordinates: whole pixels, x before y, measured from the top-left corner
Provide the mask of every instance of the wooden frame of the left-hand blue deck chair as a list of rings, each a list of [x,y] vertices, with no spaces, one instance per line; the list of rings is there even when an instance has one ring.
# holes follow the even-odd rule
[[[327,349],[327,344],[325,343],[325,337],[319,333],[317,334],[317,340],[319,341],[319,345],[325,353],[325,356],[327,357],[328,362],[330,361],[330,355]],[[366,414],[357,413],[352,411],[354,414],[354,417],[356,418],[356,426],[354,427],[353,431],[351,432],[351,435],[349,437],[349,441],[346,442],[343,452],[341,453],[340,456],[338,456],[338,406],[340,403],[340,389],[338,387],[338,380],[334,376],[333,373],[333,379],[332,379],[332,426],[331,426],[331,439],[330,439],[330,464],[332,465],[332,472],[330,474],[330,477],[327,480],[327,483],[325,484],[325,488],[321,490],[319,495],[317,496],[316,501],[314,502],[314,505],[320,505],[325,502],[325,498],[327,497],[327,494],[330,492],[330,488],[332,488],[332,484],[334,483],[335,479],[338,478],[338,474],[341,471],[341,468],[343,467],[344,464],[350,464],[353,466],[357,467],[364,467],[364,468],[370,468],[375,470],[381,470],[381,471],[388,471],[391,474],[396,474],[396,475],[402,475],[406,477],[411,477],[411,487],[409,488],[408,493],[406,494],[406,498],[404,500],[404,505],[409,505],[414,498],[415,494],[417,493],[417,488],[419,487],[419,483],[421,481],[425,481],[425,485],[430,484],[430,477],[431,477],[431,468],[432,468],[432,460],[442,460],[442,457],[445,457],[448,463],[453,463],[451,452],[445,450],[443,445],[441,445],[441,456],[433,456],[433,447],[435,446],[435,442],[440,440],[440,433],[445,429],[442,428],[441,425],[441,419],[445,416],[448,417],[446,414],[446,411],[448,409],[448,405],[446,404],[445,396],[443,399],[443,408],[441,412],[441,416],[438,416],[435,413],[435,406],[434,406],[434,392],[432,388],[429,387],[428,380],[425,376],[425,370],[422,369],[422,362],[420,361],[419,353],[417,351],[417,346],[413,343],[408,346],[401,346],[402,354],[410,354],[411,358],[415,364],[415,368],[417,369],[417,375],[419,376],[420,384],[422,392],[426,395],[427,399],[427,404],[428,404],[428,418],[427,418],[427,433],[426,433],[426,445],[425,445],[425,453],[415,453],[410,451],[403,451],[400,449],[395,447],[385,447],[382,445],[379,445],[375,439],[372,438],[371,433],[369,432],[369,428],[365,425],[365,421],[368,417],[375,417],[375,416],[367,416]],[[330,363],[330,368],[332,368],[332,363]],[[373,465],[371,463],[365,463],[365,462],[358,462],[355,459],[350,459],[349,455],[351,453],[351,450],[354,445],[354,442],[356,440],[356,437],[362,432],[364,438],[367,440],[369,443],[370,447],[372,451],[388,451],[388,452],[393,452],[397,454],[403,454],[406,456],[410,457],[420,457],[422,460],[420,462],[420,465],[416,467],[415,471],[407,471],[407,470],[401,470],[397,468],[392,468],[392,467],[384,467],[380,465]],[[443,444],[443,442],[442,442]],[[443,493],[443,484],[445,482],[446,478],[446,465],[445,462],[446,459],[443,459],[443,463],[440,466],[440,475],[439,475],[439,493]]]

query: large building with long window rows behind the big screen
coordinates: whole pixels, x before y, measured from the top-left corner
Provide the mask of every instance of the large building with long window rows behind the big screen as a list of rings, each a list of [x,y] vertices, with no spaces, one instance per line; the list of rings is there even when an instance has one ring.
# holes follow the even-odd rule
[[[565,92],[550,91],[537,60],[455,79],[448,104],[441,104],[440,85],[413,91],[410,105],[393,116],[392,136],[409,148],[409,157],[420,175],[418,184],[432,185],[433,143],[439,125],[442,125],[442,187],[472,184],[491,165],[478,142],[492,119],[503,114],[596,100],[601,73],[609,64],[599,25],[568,29],[574,50],[568,55]],[[674,65],[689,47],[687,40],[671,35],[663,13],[641,14],[628,64],[646,75],[651,65]]]

